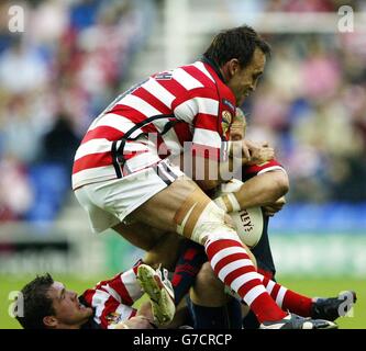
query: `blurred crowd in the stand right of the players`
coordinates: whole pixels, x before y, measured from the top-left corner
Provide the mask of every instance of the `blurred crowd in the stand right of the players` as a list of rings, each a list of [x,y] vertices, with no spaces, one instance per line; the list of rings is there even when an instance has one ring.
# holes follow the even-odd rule
[[[231,15],[366,13],[366,2],[225,0]],[[223,10],[224,12],[224,10]],[[354,20],[356,19],[354,16]],[[355,22],[356,23],[356,22]],[[362,23],[358,23],[362,24]],[[321,25],[321,24],[320,24]],[[366,33],[265,34],[273,56],[244,104],[248,137],[268,140],[289,172],[293,202],[366,203]]]

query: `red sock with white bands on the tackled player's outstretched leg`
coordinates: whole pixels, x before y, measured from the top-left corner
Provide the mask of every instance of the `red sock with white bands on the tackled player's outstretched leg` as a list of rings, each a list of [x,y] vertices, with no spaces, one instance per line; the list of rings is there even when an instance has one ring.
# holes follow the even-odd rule
[[[258,273],[258,275],[262,274]],[[268,294],[284,310],[292,312],[302,317],[310,317],[312,306],[312,299],[310,297],[292,292],[264,275],[262,275],[262,282]]]

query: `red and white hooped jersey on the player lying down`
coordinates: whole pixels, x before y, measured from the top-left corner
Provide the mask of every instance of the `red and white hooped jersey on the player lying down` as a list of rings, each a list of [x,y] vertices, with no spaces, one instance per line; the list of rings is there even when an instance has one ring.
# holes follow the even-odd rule
[[[132,305],[144,294],[136,280],[136,269],[137,265],[111,280],[98,283],[79,297],[84,305],[93,308],[93,321],[100,328],[113,328],[136,315]]]

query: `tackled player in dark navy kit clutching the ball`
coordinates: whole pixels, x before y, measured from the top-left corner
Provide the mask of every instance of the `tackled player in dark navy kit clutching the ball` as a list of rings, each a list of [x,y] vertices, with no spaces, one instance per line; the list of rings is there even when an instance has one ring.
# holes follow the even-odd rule
[[[237,113],[242,114],[240,109],[237,109]],[[242,125],[236,125],[231,129],[232,139],[243,138],[245,135],[246,122],[243,114],[242,116]],[[345,295],[314,299],[289,291],[274,281],[276,270],[268,239],[268,220],[269,216],[280,211],[286,203],[285,195],[289,189],[289,181],[282,166],[276,160],[263,165],[245,166],[241,173],[235,174],[235,178],[240,178],[245,183],[239,182],[236,191],[231,196],[225,194],[215,199],[215,201],[225,212],[231,212],[235,207],[237,207],[236,211],[253,206],[263,207],[263,234],[252,252],[257,261],[257,271],[263,275],[264,284],[276,302],[281,307],[307,317],[334,320],[344,315],[345,310],[340,306],[344,305]],[[171,251],[171,242],[167,248],[170,248]],[[189,242],[184,242],[180,250],[181,254],[171,282],[176,292],[177,305],[189,288],[193,286],[190,296],[190,310],[195,328],[241,328],[242,317],[239,310],[241,306],[224,294],[222,283],[217,280],[210,265],[208,263],[203,264],[206,262],[204,251],[199,246]],[[156,257],[154,259],[157,260]],[[203,268],[201,269],[202,264]],[[350,304],[346,307],[351,308],[356,302],[356,295],[354,292],[346,293],[350,297]],[[242,306],[244,307],[244,305]],[[248,310],[243,309],[244,315],[246,315]],[[244,318],[244,327],[246,329],[258,327],[258,322],[252,313]]]

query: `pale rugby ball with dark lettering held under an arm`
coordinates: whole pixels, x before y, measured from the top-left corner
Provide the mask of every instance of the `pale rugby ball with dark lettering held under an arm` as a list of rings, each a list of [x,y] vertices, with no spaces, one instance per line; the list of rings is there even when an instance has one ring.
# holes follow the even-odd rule
[[[236,179],[221,185],[220,191],[215,194],[220,196],[225,193],[235,192],[242,186],[243,182]],[[254,248],[262,238],[264,227],[264,216],[262,207],[251,207],[229,213],[233,220],[236,233],[249,248]]]

